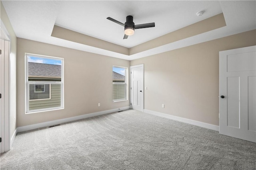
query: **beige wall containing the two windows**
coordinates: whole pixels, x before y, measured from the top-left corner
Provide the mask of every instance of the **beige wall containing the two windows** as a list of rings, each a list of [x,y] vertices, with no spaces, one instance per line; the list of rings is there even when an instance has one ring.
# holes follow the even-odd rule
[[[25,114],[25,53],[64,58],[64,109]],[[129,106],[129,97],[112,102],[113,65],[129,68],[130,61],[18,38],[17,126]]]

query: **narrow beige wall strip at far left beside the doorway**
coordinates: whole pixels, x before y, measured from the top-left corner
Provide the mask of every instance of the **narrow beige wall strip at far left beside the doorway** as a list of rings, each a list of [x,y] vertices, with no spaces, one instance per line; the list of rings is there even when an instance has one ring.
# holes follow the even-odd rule
[[[14,134],[16,129],[16,123],[14,123],[14,119],[16,119],[16,46],[17,46],[17,38],[10,23],[10,20],[6,14],[4,6],[1,1],[1,20],[6,27],[10,38],[10,58],[9,58],[9,105],[10,105],[10,137]]]

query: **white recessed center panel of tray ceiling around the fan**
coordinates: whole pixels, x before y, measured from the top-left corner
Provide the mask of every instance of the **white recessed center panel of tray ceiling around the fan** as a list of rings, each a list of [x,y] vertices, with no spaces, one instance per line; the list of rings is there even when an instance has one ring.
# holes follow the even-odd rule
[[[196,16],[201,10],[204,15]],[[220,13],[218,1],[64,1],[55,24],[130,48]],[[125,23],[128,15],[135,25],[155,22],[156,27],[136,29],[123,39],[124,27],[106,18]]]

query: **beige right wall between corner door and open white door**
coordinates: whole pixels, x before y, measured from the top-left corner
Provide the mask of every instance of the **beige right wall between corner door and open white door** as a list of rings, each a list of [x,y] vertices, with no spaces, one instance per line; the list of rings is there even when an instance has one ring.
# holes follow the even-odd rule
[[[219,125],[219,51],[252,45],[256,30],[131,61],[144,64],[144,109]]]

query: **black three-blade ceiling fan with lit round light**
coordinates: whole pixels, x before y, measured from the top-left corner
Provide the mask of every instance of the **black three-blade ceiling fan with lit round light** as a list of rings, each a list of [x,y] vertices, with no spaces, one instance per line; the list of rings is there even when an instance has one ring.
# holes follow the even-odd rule
[[[127,16],[125,23],[119,22],[119,21],[117,21],[113,18],[110,18],[110,17],[108,17],[107,19],[110,20],[110,21],[113,21],[115,23],[118,23],[119,25],[122,25],[124,27],[124,38],[123,39],[127,39],[129,35],[133,35],[134,34],[134,29],[148,28],[148,27],[154,27],[155,26],[154,22],[134,25],[133,16]]]

